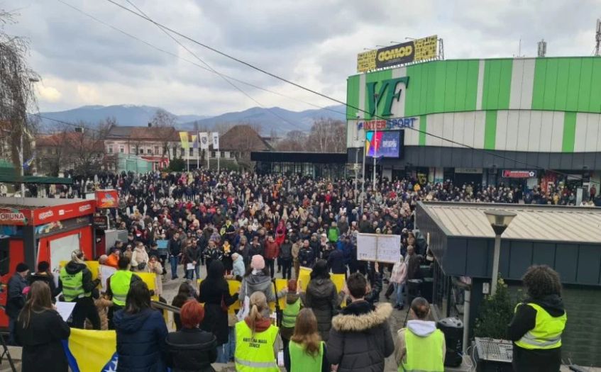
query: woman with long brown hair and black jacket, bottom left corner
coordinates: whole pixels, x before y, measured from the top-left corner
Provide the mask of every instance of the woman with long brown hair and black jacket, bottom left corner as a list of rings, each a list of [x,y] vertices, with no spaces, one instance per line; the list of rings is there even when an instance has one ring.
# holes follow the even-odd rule
[[[16,341],[23,346],[21,371],[67,372],[62,340],[70,333],[67,323],[53,308],[48,284],[35,281],[16,323]]]

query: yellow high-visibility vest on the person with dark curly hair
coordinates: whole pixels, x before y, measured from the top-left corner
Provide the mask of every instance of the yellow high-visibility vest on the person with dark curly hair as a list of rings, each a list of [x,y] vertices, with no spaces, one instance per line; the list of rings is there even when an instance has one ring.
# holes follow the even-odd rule
[[[526,303],[536,310],[536,322],[515,344],[522,349],[556,349],[561,346],[561,333],[566,327],[568,315],[563,312],[561,317],[551,316],[544,308],[536,303]],[[519,306],[519,304],[518,304]],[[517,306],[515,307],[517,311]]]

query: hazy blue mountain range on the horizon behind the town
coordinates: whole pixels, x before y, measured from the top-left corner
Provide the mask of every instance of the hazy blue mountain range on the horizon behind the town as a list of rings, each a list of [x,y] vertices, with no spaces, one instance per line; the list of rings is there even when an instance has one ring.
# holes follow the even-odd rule
[[[148,125],[158,110],[162,110],[162,108],[135,105],[82,106],[67,111],[43,112],[40,113],[40,116],[43,116],[40,120],[44,130],[50,130],[60,125],[54,120],[97,125],[106,118],[115,118],[118,125],[143,127]],[[194,130],[197,124],[198,128],[212,130],[220,124],[245,123],[259,125],[262,135],[270,133],[284,135],[290,130],[307,132],[311,129],[314,120],[319,118],[345,120],[344,112],[345,107],[338,105],[305,111],[290,111],[280,107],[253,107],[216,116],[170,114],[175,118],[175,126],[181,130]]]

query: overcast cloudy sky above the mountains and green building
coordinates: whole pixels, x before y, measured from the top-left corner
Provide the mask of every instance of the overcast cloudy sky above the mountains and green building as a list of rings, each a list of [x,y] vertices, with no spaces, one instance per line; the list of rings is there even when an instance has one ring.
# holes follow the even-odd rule
[[[4,26],[28,38],[30,64],[42,77],[40,111],[83,105],[161,106],[177,114],[216,115],[259,106],[148,21],[106,0],[63,0],[105,23],[178,57],[94,21],[58,0],[0,0],[18,9]],[[115,0],[123,6],[126,0]],[[159,23],[286,79],[344,101],[363,48],[437,34],[446,59],[591,55],[601,0],[130,0]],[[133,8],[132,8],[133,9]],[[336,104],[182,43],[214,69],[284,98],[235,82],[266,107],[294,111]],[[300,100],[300,101],[298,101]]]

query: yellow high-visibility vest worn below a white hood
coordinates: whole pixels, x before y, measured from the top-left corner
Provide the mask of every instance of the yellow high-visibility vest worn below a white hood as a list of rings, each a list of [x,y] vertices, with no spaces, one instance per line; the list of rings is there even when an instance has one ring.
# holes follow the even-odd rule
[[[405,347],[407,362],[401,363],[399,372],[428,371],[443,372],[443,350],[444,334],[440,329],[426,337],[419,337],[409,328],[405,329]]]

